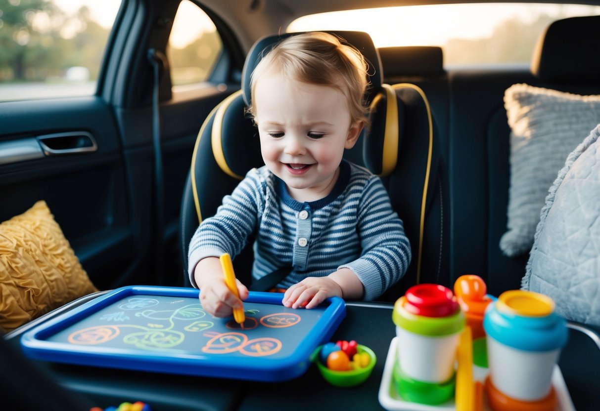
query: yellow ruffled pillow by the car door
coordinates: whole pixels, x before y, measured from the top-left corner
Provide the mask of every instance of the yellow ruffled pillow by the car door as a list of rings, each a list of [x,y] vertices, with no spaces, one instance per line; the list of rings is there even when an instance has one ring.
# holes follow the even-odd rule
[[[95,291],[45,201],[0,224],[0,330]]]

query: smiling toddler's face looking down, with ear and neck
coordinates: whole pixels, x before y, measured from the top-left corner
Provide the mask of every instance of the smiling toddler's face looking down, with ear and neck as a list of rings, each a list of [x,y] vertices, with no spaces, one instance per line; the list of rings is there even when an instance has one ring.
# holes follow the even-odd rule
[[[333,87],[265,74],[254,88],[255,120],[266,166],[298,201],[331,192],[344,149],[361,126],[352,125],[346,96]]]

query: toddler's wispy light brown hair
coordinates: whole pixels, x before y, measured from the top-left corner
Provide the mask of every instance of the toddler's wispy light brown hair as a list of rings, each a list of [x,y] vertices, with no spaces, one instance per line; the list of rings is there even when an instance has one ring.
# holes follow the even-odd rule
[[[261,75],[279,72],[310,84],[334,87],[346,96],[352,122],[368,125],[367,62],[362,53],[324,32],[307,32],[281,40],[256,65],[250,78],[251,95]],[[256,115],[254,98],[248,114]]]

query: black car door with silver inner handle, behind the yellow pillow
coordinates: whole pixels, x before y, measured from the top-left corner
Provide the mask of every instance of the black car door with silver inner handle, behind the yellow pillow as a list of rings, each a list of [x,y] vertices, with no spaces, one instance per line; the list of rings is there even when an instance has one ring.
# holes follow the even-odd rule
[[[26,13],[47,19],[67,16],[66,11],[63,14],[45,8],[43,2],[27,6],[32,8],[20,7],[19,2],[2,7],[5,17],[16,16],[4,28],[13,32],[13,38],[18,40],[21,35],[26,40],[23,31],[28,32],[29,42],[5,44],[8,49],[22,49],[21,56],[17,50],[13,59],[25,62],[35,57],[34,46],[29,43],[48,41],[43,29],[28,23]],[[61,28],[46,28],[46,32],[59,34]],[[77,40],[77,35],[64,35],[62,46],[48,47],[62,57],[67,56],[66,47],[73,47],[69,41]],[[101,86],[94,93],[94,84],[85,82],[88,68],[53,70],[54,61],[42,61],[41,66],[29,62],[24,63],[22,75],[12,62],[2,63],[13,82],[0,84],[0,220],[23,213],[36,201],[46,201],[92,281],[98,288],[106,288],[136,260],[135,255],[125,258],[121,251],[135,250],[135,238],[119,131],[110,101],[99,92]],[[28,71],[44,69],[43,64],[55,83],[27,75]],[[94,68],[100,69],[99,59]],[[68,76],[76,80],[68,81]]]

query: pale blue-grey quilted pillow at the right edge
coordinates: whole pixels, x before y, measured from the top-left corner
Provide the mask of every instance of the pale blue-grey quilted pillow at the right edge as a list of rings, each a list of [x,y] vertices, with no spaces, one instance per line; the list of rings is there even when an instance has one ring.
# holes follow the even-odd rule
[[[566,319],[600,325],[600,125],[566,159],[546,197],[523,289]]]

